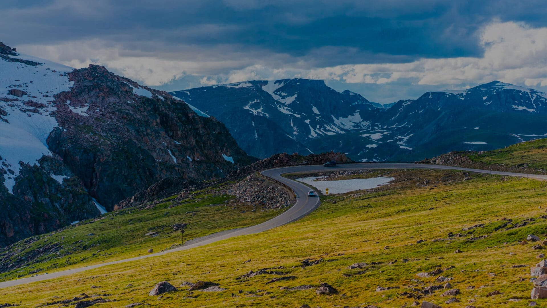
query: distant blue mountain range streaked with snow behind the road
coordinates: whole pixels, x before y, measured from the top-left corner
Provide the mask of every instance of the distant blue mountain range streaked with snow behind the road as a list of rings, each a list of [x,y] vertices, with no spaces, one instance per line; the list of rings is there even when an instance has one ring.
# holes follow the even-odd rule
[[[340,151],[359,161],[414,161],[453,150],[491,150],[540,138],[547,94],[494,81],[427,92],[389,108],[323,81],[283,79],[173,92],[223,121],[258,157]]]

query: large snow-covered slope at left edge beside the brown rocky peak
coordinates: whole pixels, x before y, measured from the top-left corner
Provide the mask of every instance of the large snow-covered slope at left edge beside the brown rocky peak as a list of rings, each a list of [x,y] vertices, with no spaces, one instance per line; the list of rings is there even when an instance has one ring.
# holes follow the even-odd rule
[[[20,161],[33,165],[43,155],[51,155],[46,138],[57,127],[53,96],[72,86],[66,75],[72,70],[22,54],[0,59],[0,110],[7,113],[0,111],[0,157],[8,170],[4,185],[10,193],[21,169]]]

